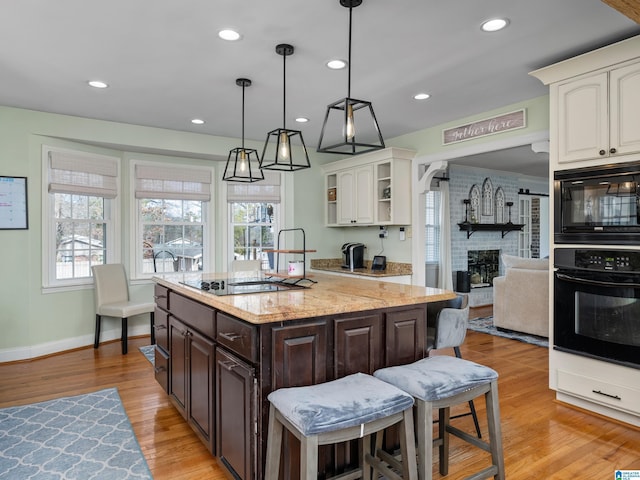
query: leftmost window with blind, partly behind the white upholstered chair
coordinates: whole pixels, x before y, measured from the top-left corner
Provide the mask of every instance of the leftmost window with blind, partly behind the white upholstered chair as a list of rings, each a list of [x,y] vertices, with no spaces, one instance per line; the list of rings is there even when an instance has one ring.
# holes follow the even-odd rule
[[[114,239],[118,162],[114,157],[44,147],[43,283],[91,284],[91,267],[117,261]]]

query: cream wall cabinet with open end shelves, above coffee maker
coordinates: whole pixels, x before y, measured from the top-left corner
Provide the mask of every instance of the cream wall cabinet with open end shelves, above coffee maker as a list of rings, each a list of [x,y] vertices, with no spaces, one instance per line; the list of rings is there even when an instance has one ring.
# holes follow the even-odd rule
[[[323,166],[325,224],[409,225],[414,155],[388,148]]]

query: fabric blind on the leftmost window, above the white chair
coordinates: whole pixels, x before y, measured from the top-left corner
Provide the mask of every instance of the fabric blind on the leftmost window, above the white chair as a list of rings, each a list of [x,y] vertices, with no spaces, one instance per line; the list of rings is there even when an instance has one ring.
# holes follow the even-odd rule
[[[116,198],[118,161],[82,152],[49,151],[49,193]]]

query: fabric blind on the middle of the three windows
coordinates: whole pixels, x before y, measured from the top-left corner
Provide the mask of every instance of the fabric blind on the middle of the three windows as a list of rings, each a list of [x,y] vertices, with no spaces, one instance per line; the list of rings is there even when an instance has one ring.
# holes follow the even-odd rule
[[[211,200],[211,170],[136,165],[136,198]]]

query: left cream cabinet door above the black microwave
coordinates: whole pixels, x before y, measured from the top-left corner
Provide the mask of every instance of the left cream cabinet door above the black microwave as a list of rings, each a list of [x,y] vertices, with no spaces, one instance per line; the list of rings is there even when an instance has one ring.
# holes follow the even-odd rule
[[[609,155],[608,74],[558,87],[558,162]]]

